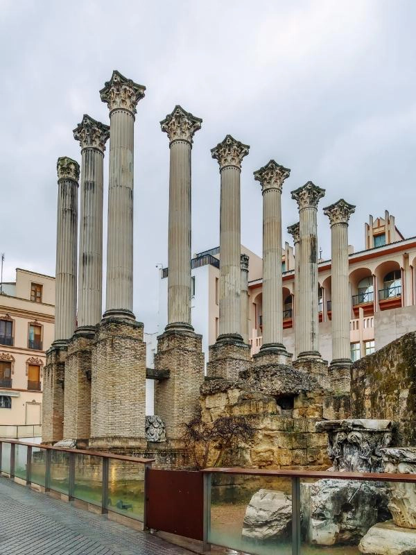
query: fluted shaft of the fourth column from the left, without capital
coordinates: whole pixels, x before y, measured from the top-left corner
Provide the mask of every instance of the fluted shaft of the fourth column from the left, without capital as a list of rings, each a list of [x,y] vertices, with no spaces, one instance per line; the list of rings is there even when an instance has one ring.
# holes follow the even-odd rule
[[[171,142],[168,324],[191,324],[191,144]]]

